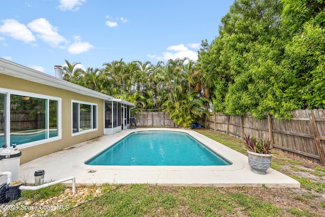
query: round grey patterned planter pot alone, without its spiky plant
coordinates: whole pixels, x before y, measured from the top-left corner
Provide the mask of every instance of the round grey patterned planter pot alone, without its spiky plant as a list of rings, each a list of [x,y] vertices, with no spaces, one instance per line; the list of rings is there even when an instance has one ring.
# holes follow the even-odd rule
[[[247,150],[248,153],[248,164],[251,171],[257,174],[266,174],[266,171],[271,166],[271,154],[255,153]]]

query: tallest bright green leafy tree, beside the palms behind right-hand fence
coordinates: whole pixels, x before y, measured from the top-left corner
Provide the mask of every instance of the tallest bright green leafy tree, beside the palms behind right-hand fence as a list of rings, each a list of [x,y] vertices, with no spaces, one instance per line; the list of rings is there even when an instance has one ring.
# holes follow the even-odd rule
[[[214,111],[289,118],[295,106],[283,98],[290,76],[281,68],[289,39],[281,13],[276,0],[235,1],[221,20],[219,37],[210,45],[202,41],[197,68],[213,78]]]

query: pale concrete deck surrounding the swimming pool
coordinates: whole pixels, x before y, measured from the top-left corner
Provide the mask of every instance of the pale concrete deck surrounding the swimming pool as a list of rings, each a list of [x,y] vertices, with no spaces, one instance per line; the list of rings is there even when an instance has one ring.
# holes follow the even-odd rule
[[[229,166],[92,166],[84,164],[85,161],[126,135],[135,131],[148,130],[188,133],[233,164]],[[37,170],[45,170],[46,182],[75,176],[77,184],[86,185],[149,183],[173,186],[261,187],[265,184],[269,188],[300,188],[297,180],[273,169],[269,169],[266,175],[251,172],[247,156],[198,132],[170,128],[127,129],[114,135],[104,135],[76,144],[20,165],[20,180],[34,183],[34,172]]]

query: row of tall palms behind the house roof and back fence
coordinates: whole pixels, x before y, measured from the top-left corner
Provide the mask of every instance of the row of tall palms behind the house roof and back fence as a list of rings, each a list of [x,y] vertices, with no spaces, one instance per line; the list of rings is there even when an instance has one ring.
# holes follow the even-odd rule
[[[66,62],[67,80],[135,103],[139,109],[164,109],[171,112],[177,125],[188,127],[207,112],[204,103],[208,105],[208,97],[202,95],[209,86],[188,58],[170,59],[166,65],[159,61],[155,66],[150,61],[126,64],[120,59],[104,63],[102,69],[87,68],[86,72],[75,68],[79,63]]]

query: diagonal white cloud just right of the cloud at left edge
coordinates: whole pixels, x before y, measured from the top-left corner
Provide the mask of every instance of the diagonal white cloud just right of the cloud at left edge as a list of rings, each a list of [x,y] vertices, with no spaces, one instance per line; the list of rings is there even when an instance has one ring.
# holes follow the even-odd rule
[[[28,27],[37,33],[37,37],[48,43],[52,47],[68,42],[66,38],[57,33],[57,27],[51,25],[45,18],[39,18],[28,23]]]

